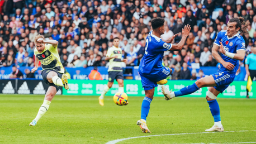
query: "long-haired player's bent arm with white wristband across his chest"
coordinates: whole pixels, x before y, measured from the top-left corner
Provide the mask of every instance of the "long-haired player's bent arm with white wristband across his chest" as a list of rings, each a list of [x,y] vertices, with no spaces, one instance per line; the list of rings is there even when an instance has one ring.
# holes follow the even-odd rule
[[[225,49],[224,49],[224,47],[222,45],[222,42],[220,42],[220,52],[222,54],[230,57],[231,59],[240,60],[240,61],[243,61],[244,60],[244,56],[245,56],[245,50],[236,51],[236,54],[225,51]]]

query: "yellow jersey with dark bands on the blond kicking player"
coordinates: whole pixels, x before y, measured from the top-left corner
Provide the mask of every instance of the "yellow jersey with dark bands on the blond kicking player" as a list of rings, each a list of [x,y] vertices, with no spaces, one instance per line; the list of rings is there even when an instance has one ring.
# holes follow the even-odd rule
[[[53,47],[51,44],[46,44],[45,49],[42,52],[34,50],[34,55],[40,60],[42,70],[52,69],[59,73],[64,74],[63,65],[60,62],[60,56],[58,52],[58,46]]]

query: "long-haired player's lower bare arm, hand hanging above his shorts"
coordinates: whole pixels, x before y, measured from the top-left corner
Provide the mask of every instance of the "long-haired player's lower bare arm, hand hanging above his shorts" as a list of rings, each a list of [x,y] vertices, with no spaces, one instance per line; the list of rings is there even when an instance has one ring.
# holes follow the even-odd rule
[[[233,70],[235,66],[229,62],[226,62],[222,59],[222,57],[218,53],[219,51],[219,46],[215,45],[212,47],[212,56],[220,63],[222,64],[226,69],[228,70]]]

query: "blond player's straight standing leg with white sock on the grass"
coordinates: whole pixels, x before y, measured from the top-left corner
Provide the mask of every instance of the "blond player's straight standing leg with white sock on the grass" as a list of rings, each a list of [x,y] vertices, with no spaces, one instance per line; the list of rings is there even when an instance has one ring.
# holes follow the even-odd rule
[[[41,107],[39,108],[39,111],[37,113],[37,116],[33,121],[29,124],[30,126],[35,126],[36,123],[39,121],[39,119],[44,116],[44,114],[48,111],[51,100],[53,100],[54,95],[57,93],[57,90],[55,87],[50,86],[45,94],[44,103],[42,103]]]

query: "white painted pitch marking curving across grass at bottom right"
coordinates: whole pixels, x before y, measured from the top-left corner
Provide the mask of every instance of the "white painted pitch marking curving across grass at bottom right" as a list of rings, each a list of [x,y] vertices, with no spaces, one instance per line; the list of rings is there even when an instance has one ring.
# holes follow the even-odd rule
[[[249,131],[226,131],[226,132],[249,132]],[[106,144],[115,144],[117,142],[121,142],[121,141],[125,141],[125,140],[130,140],[130,139],[134,139],[134,138],[141,138],[141,137],[191,135],[191,134],[202,134],[202,133],[220,133],[220,132],[174,133],[174,134],[166,134],[166,135],[150,135],[150,136],[140,136],[140,137],[128,137],[128,138],[122,138],[122,139],[118,139],[118,140],[109,141]],[[235,143],[237,143],[237,142],[235,142]],[[244,142],[244,143],[247,143],[247,142]],[[252,143],[256,143],[256,142],[252,142]],[[196,144],[196,143],[191,143],[191,144]],[[200,144],[202,144],[202,143],[200,143]],[[214,143],[209,143],[209,144],[214,144]]]

